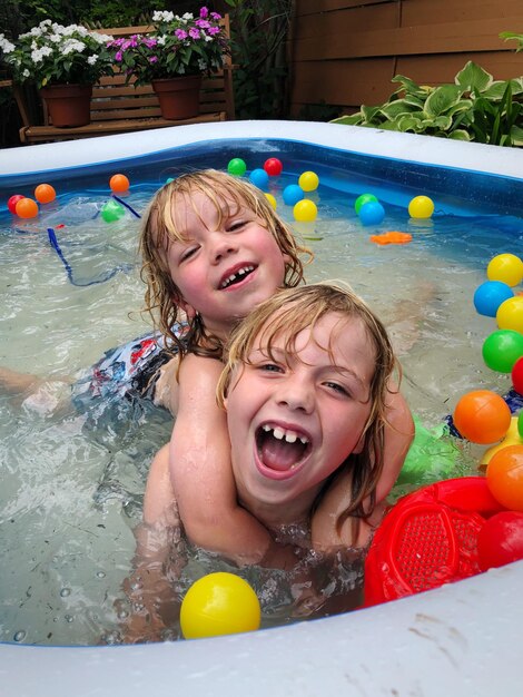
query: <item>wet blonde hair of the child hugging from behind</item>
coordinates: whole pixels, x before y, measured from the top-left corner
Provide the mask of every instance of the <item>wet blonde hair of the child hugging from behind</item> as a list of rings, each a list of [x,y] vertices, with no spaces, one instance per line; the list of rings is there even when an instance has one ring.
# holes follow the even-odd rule
[[[167,251],[172,242],[186,242],[182,230],[176,225],[175,208],[180,197],[186,203],[193,202],[196,192],[213,202],[219,224],[224,217],[236,215],[241,207],[253,210],[260,218],[276,239],[282,255],[288,257],[283,287],[294,287],[304,281],[300,256],[308,256],[310,259],[312,253],[296,242],[293,232],[276,215],[264,193],[238,177],[215,169],[204,169],[181,175],[157,192],[144,216],[140,232],[141,278],[147,285],[145,311],[152,316],[155,326],[158,326],[168,343],[175,344],[181,355],[194,351],[220,359],[223,342],[206,334],[199,313],[189,322],[184,345],[172,332],[175,323],[185,320],[181,310],[184,298],[171,278]],[[193,209],[200,216],[195,204]]]

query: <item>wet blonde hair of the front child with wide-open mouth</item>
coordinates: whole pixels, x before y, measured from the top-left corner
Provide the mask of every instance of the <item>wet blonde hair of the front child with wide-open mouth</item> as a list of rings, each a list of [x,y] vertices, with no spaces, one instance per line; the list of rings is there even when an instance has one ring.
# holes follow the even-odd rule
[[[349,454],[341,467],[352,469],[352,501],[336,521],[338,531],[348,517],[369,516],[375,505],[376,484],[383,470],[384,431],[386,425],[386,395],[388,381],[395,367],[399,366],[387,332],[382,322],[365,302],[348,286],[339,283],[317,283],[299,288],[280,291],[254,310],[233,332],[227,345],[227,361],[217,387],[218,403],[224,406],[227,391],[239,379],[238,370],[249,364],[249,355],[255,342],[259,341],[264,352],[274,359],[273,346],[285,338],[284,351],[297,357],[296,337],[307,330],[314,332],[317,323],[328,314],[342,315],[343,320],[359,320],[375,351],[375,371],[371,381],[371,413],[363,431],[363,448],[357,454]],[[341,322],[343,322],[341,320]],[[337,325],[339,326],[339,324]],[[327,351],[333,357],[333,344],[337,332],[328,337]],[[325,482],[323,491],[334,473]],[[322,492],[319,494],[319,498]],[[369,505],[364,501],[368,498]],[[316,502],[317,505],[318,501]]]

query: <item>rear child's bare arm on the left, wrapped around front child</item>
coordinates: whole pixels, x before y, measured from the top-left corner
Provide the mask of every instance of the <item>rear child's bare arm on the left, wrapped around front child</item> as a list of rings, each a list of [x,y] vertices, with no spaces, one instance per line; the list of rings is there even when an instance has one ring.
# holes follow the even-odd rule
[[[169,470],[187,537],[238,565],[288,567],[292,549],[238,505],[230,464],[226,413],[216,403],[219,361],[189,354],[179,373],[178,415]]]

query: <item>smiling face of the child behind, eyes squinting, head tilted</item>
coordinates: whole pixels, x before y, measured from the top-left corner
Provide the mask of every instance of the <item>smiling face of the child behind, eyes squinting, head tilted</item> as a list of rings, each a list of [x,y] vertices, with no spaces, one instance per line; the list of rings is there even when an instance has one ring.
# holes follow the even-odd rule
[[[230,209],[235,210],[233,202]],[[234,215],[224,212],[220,222],[214,203],[195,192],[190,202],[177,197],[174,215],[187,242],[169,245],[171,277],[188,313],[199,312],[206,328],[225,337],[238,318],[282,287],[284,255],[248,208]]]

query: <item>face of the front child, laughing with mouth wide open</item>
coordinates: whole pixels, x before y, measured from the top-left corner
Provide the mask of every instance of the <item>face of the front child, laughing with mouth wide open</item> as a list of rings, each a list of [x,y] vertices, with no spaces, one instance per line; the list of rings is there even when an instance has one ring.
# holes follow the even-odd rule
[[[233,468],[243,504],[255,514],[276,507],[274,522],[284,523],[307,514],[322,482],[357,451],[375,351],[359,318],[335,313],[313,335],[300,332],[287,361],[285,337],[274,362],[259,336],[226,400]]]

